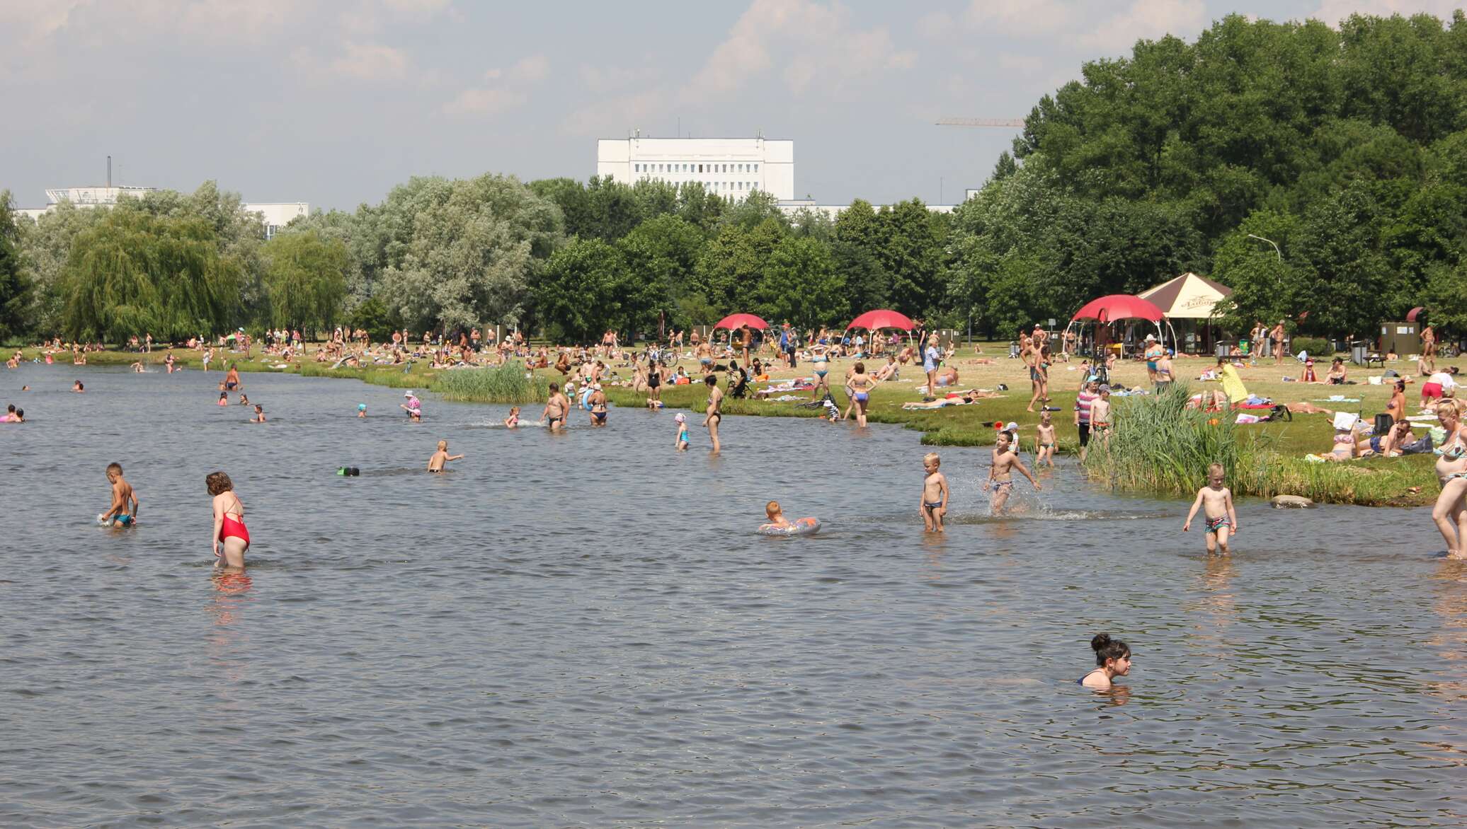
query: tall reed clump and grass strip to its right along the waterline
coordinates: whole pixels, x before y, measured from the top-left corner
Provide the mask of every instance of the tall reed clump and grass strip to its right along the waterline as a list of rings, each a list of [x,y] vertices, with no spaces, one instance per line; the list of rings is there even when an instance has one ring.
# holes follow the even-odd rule
[[[1364,505],[1419,502],[1435,489],[1429,457],[1311,463],[1279,453],[1267,435],[1237,428],[1234,413],[1187,409],[1190,397],[1187,387],[1174,385],[1157,395],[1112,398],[1109,448],[1091,438],[1086,473],[1116,489],[1191,495],[1206,485],[1207,466],[1221,463],[1234,495]]]

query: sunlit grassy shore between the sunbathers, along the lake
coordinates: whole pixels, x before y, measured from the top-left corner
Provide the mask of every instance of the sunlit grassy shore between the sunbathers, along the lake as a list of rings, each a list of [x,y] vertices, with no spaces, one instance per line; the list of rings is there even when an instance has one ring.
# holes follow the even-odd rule
[[[908,368],[902,372],[901,379],[885,382],[871,393],[871,400],[867,409],[868,420],[873,423],[892,423],[918,431],[921,432],[921,442],[933,447],[990,445],[995,438],[993,423],[1006,423],[1012,420],[1020,423],[1020,435],[1025,451],[1031,450],[1034,425],[1039,422],[1039,414],[1037,412],[1027,410],[1030,400],[1027,369],[1020,360],[993,356],[1006,353],[1006,347],[1003,344],[980,344],[980,349],[983,349],[980,353],[974,353],[971,349],[964,349],[964,352],[959,353],[952,363],[949,363],[959,372],[959,382],[955,388],[998,390],[1000,384],[1008,385],[1009,391],[1002,393],[1002,397],[983,400],[971,406],[949,406],[937,410],[904,410],[902,403],[921,398],[921,395],[915,391],[915,387],[924,382],[924,376],[920,371]],[[26,359],[35,354],[35,350],[25,352]],[[156,350],[151,354],[147,354],[144,362],[148,365],[161,363],[163,354],[164,352]],[[60,357],[66,356],[63,354]],[[88,354],[88,362],[91,365],[129,365],[138,359],[139,354],[129,352],[97,352]],[[201,368],[195,352],[176,350],[175,360],[178,365],[189,369]],[[487,376],[469,376],[471,372],[465,369],[452,372],[434,371],[425,368],[422,363],[414,363],[411,366],[330,369],[326,363],[317,363],[308,359],[293,363],[289,369],[276,369],[273,366],[279,365],[279,360],[273,357],[255,356],[254,359],[244,359],[242,354],[230,353],[216,353],[214,363],[216,365],[211,366],[211,371],[219,371],[219,368],[227,365],[236,365],[242,372],[290,371],[307,376],[346,376],[393,388],[424,388],[443,393],[455,400],[481,403],[538,403],[544,400],[544,385],[550,381],[557,382],[562,379],[560,373],[553,369],[540,369],[535,372],[537,376],[534,381],[527,384],[527,388],[530,388],[528,393],[516,391],[516,394],[527,394],[530,398],[509,400],[505,398],[506,393],[503,382],[491,381]],[[841,390],[839,378],[844,376],[849,363],[851,360],[833,360],[830,366],[835,398],[841,403],[842,409],[845,407],[845,394]],[[1182,357],[1175,362],[1177,375],[1181,379],[1196,378],[1213,363],[1215,360],[1204,357]],[[1461,363],[1463,360],[1442,360],[1439,366]],[[695,363],[692,360],[682,360],[682,365],[691,366]],[[631,371],[625,366],[612,368],[621,372],[623,378],[631,373]],[[874,368],[874,365],[871,368]],[[1301,366],[1294,360],[1288,360],[1282,366],[1275,366],[1272,362],[1267,362],[1260,363],[1259,366],[1245,366],[1240,369],[1238,373],[1248,387],[1248,391],[1263,397],[1270,397],[1275,403],[1306,401],[1323,409],[1357,412],[1367,420],[1375,413],[1382,412],[1386,400],[1389,398],[1388,385],[1369,385],[1364,382],[1366,376],[1370,373],[1379,375],[1380,369],[1366,372],[1358,368],[1351,368],[1351,379],[1358,379],[1360,384],[1345,387],[1306,385],[1282,379],[1284,376],[1297,378],[1300,368]],[[1320,365],[1316,368],[1320,369],[1319,373],[1323,375],[1323,369],[1326,366]],[[1388,363],[1386,368],[1392,368],[1402,375],[1416,373],[1414,363],[1407,363],[1404,360]],[[452,379],[446,379],[449,375],[452,375]],[[795,371],[782,369],[772,372],[772,379],[776,381],[794,376],[808,376],[808,366],[801,365]],[[1059,409],[1058,412],[1053,412],[1059,450],[1062,453],[1074,453],[1078,448],[1078,432],[1074,428],[1072,410],[1075,391],[1081,378],[1080,360],[1075,359],[1069,363],[1055,363],[1050,369],[1050,378],[1052,388],[1049,404]],[[1144,385],[1146,369],[1137,362],[1121,363],[1112,372],[1112,379],[1127,387]],[[1212,384],[1193,382],[1191,385],[1194,388],[1213,388]],[[754,384],[754,387],[760,388],[763,384]],[[1419,390],[1419,382],[1407,385],[1408,412],[1416,412]],[[616,406],[645,406],[645,394],[643,393],[635,393],[629,388],[615,385],[607,385],[606,393],[610,401]],[[800,395],[802,400],[810,398],[808,391],[792,394]],[[1358,398],[1358,401],[1329,401],[1328,398],[1332,394]],[[662,400],[666,406],[673,409],[701,410],[706,406],[707,391],[701,384],[663,387]],[[822,412],[816,409],[801,409],[798,403],[800,401],[726,400],[723,410],[731,414],[772,417],[819,417],[822,414]],[[1128,401],[1118,398],[1115,403],[1118,416],[1124,417],[1124,407]],[[1036,407],[1037,406],[1040,404],[1036,404]],[[1248,463],[1237,466],[1232,470],[1235,480],[1229,480],[1229,485],[1240,495],[1270,497],[1276,494],[1289,494],[1304,495],[1322,502],[1366,505],[1420,505],[1430,502],[1436,497],[1436,477],[1432,472],[1430,457],[1364,458],[1338,464],[1304,461],[1304,454],[1323,453],[1331,448],[1334,429],[1328,414],[1297,414],[1292,422],[1232,426],[1229,435],[1232,435],[1232,439],[1237,442],[1248,447]],[[1191,466],[1197,464],[1193,463]],[[1166,483],[1159,476],[1115,475],[1115,470],[1099,470],[1089,464],[1087,470],[1093,477],[1096,477],[1096,480],[1122,491],[1143,491],[1162,495],[1187,494],[1178,486]],[[1200,480],[1201,473],[1201,469],[1197,469],[1196,473],[1188,473],[1193,475],[1193,477],[1185,477],[1187,485],[1191,486],[1193,480]],[[1200,486],[1200,483],[1197,485]]]

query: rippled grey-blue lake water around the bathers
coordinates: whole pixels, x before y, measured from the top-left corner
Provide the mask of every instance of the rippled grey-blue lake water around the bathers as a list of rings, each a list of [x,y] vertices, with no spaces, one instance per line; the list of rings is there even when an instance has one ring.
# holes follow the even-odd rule
[[[0,376],[0,825],[1467,822],[1467,567],[1427,510],[1244,502],[1207,560],[1188,504],[1067,466],[992,520],[987,454],[943,448],[924,538],[910,431],[729,417],[711,458],[672,413],[412,425],[276,375],[248,425],[219,376]],[[113,460],[132,530],[94,521]],[[211,579],[216,469],[245,576]],[[769,498],[824,529],[754,535]],[[1075,683],[1097,631],[1128,693]]]

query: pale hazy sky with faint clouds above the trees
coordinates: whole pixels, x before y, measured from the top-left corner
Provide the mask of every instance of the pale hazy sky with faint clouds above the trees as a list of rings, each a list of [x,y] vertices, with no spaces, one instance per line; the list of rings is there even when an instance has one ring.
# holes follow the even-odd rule
[[[0,0],[0,189],[354,209],[411,176],[596,173],[596,139],[795,141],[795,196],[962,201],[1020,119],[1138,38],[1228,13],[1451,16],[1463,0]]]

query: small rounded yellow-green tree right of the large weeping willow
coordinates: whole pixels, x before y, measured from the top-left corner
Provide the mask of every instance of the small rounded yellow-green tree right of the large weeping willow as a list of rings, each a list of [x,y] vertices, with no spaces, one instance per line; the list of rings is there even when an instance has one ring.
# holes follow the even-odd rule
[[[314,230],[282,231],[266,242],[266,290],[273,327],[330,330],[346,297],[346,245]]]

